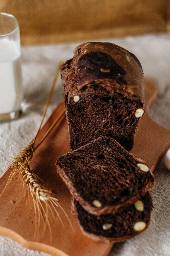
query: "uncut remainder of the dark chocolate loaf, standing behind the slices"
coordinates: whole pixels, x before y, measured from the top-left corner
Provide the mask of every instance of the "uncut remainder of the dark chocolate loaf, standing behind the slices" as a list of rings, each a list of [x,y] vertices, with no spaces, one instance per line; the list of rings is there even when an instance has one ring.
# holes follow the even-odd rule
[[[144,114],[144,80],[134,54],[113,43],[83,43],[61,67],[72,150],[110,136],[130,151]]]

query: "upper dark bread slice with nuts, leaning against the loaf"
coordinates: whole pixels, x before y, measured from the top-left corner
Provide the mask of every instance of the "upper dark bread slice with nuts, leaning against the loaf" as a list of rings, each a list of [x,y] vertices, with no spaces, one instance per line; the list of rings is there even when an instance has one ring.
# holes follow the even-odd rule
[[[116,213],[153,188],[149,167],[103,136],[57,159],[71,195],[92,214]]]

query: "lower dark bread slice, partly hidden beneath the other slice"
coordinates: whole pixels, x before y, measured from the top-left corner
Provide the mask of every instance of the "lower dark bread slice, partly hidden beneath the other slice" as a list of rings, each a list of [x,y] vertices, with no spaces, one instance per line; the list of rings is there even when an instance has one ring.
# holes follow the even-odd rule
[[[135,205],[126,208],[121,213],[96,216],[84,210],[73,197],[71,205],[72,213],[84,235],[96,241],[110,240],[113,242],[124,241],[145,230],[149,225],[153,207],[149,192],[142,196]]]

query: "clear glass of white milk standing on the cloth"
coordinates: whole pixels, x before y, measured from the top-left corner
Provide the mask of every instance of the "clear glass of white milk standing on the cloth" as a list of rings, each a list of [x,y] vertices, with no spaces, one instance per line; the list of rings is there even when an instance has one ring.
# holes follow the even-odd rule
[[[16,119],[23,100],[20,29],[16,18],[0,13],[0,122]]]

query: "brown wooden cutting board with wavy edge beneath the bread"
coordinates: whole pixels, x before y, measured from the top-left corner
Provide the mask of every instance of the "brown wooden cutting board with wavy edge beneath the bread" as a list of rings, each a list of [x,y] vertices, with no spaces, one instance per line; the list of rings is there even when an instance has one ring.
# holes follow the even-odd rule
[[[132,150],[134,156],[145,160],[152,171],[170,147],[170,130],[156,124],[148,114],[149,106],[154,101],[156,94],[155,85],[145,79],[146,113],[141,119]],[[37,142],[40,141],[63,108],[64,103],[60,104],[52,113],[39,132]],[[44,251],[55,256],[106,256],[113,243],[97,243],[84,236],[70,213],[71,196],[64,182],[57,175],[55,167],[57,157],[68,151],[70,151],[69,135],[64,115],[35,152],[31,166],[34,173],[44,181],[42,185],[53,191],[54,197],[60,199],[61,206],[73,224],[74,232],[63,212],[59,209],[58,213],[65,226],[61,225],[57,216],[54,218],[50,213],[52,241],[50,242],[50,231],[48,228],[45,229],[42,220],[40,220],[40,230],[35,240],[35,211],[32,198],[30,196],[29,199],[27,191],[25,199],[23,184],[16,176],[0,197],[0,234],[16,240],[24,247]],[[0,179],[0,193],[7,182],[8,176],[9,171]],[[36,219],[38,221],[38,217]]]

